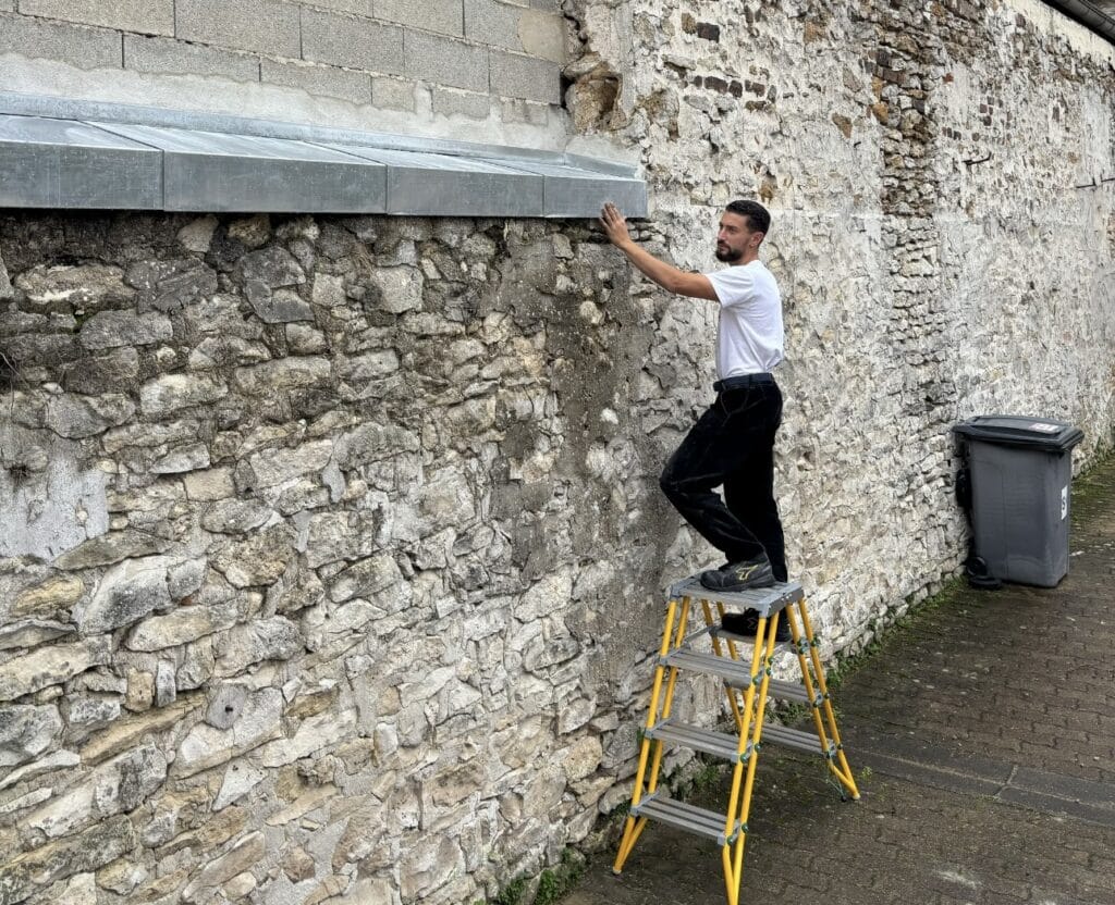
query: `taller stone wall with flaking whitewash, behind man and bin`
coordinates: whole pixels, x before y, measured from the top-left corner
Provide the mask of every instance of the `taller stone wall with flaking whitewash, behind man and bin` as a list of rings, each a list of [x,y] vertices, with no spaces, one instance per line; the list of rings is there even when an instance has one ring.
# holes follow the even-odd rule
[[[708,269],[720,205],[772,208],[791,568],[862,643],[962,556],[952,424],[1041,413],[1085,429],[1077,464],[1111,448],[1115,51],[1032,0],[570,14],[570,114],[641,150],[660,251]]]

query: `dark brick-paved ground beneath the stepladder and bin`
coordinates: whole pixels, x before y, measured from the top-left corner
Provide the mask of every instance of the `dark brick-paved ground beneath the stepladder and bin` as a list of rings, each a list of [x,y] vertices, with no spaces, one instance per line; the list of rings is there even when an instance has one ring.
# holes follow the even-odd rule
[[[1058,587],[963,586],[841,683],[859,802],[764,751],[744,905],[1115,905],[1115,458],[1076,481],[1070,543]],[[705,839],[652,823],[621,877],[613,855],[562,905],[725,901]]]

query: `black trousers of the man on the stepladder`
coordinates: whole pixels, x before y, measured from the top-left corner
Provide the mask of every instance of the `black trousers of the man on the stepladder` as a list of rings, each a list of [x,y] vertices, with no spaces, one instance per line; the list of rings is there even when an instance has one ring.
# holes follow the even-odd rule
[[[730,379],[729,379],[730,385]],[[786,581],[786,548],[774,498],[774,438],[782,391],[773,380],[723,389],[670,457],[660,480],[675,508],[729,563],[770,559]],[[714,492],[724,486],[724,499]]]

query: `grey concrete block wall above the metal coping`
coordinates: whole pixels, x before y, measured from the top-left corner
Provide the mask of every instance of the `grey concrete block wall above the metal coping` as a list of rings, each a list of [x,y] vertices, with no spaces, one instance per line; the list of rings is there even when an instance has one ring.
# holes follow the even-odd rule
[[[72,95],[66,86],[81,85],[93,99],[149,104],[146,91],[163,85],[172,106],[220,97],[264,118],[297,95],[302,115],[281,118],[363,127],[377,109],[399,110],[409,120],[389,120],[392,130],[453,117],[454,137],[474,140],[485,137],[481,121],[564,134],[565,55],[556,0],[0,1],[8,90]],[[90,71],[97,78],[83,82]],[[459,132],[462,117],[476,120],[475,135]]]

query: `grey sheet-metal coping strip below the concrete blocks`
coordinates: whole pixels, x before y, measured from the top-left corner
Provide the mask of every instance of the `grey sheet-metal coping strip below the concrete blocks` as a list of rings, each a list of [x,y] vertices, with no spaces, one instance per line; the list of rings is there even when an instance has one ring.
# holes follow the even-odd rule
[[[10,113],[0,148],[6,207],[581,218],[611,197],[647,213],[628,176],[430,149]]]

